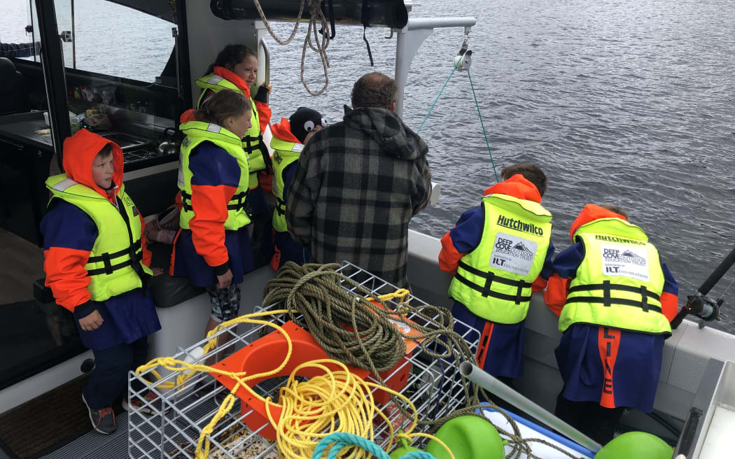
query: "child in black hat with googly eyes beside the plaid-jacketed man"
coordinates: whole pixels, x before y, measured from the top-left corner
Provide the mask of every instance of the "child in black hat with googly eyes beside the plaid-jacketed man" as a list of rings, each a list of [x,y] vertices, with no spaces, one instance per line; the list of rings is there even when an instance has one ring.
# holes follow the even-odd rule
[[[273,210],[273,258],[270,266],[274,270],[286,261],[304,264],[311,258],[309,249],[296,242],[286,228],[286,200],[298,165],[298,156],[304,144],[314,134],[326,127],[326,120],[314,109],[299,107],[288,119],[270,127],[273,139],[273,195],[276,209]]]

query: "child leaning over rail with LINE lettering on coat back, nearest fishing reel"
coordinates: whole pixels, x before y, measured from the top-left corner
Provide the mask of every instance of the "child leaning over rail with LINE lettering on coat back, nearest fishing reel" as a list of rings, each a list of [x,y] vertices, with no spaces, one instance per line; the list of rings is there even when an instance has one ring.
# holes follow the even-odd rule
[[[563,333],[554,414],[606,444],[625,408],[653,410],[678,284],[620,207],[587,204],[570,236],[544,293]]]

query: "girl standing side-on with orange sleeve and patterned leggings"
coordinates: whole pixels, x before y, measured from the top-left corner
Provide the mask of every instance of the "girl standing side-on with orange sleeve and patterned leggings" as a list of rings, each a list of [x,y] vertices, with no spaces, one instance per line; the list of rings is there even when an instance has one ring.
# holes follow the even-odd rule
[[[251,104],[221,90],[182,123],[179,189],[181,230],[171,275],[207,289],[212,313],[206,331],[237,317],[243,274],[253,269],[245,209],[248,159],[241,139],[251,125]]]

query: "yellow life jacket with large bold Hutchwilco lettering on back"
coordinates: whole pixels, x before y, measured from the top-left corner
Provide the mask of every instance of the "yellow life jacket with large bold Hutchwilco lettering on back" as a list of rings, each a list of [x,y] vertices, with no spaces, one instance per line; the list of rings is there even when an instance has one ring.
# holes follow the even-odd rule
[[[503,324],[526,319],[531,284],[544,265],[551,214],[541,204],[509,195],[482,199],[480,244],[466,253],[449,295],[478,317]]]

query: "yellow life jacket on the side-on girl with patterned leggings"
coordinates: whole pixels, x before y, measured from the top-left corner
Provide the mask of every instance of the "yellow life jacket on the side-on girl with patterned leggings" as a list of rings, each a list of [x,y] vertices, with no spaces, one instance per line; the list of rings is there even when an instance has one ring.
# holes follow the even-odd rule
[[[181,159],[179,162],[179,189],[182,190],[182,212],[179,215],[179,226],[189,229],[189,221],[194,217],[191,206],[191,178],[193,173],[189,169],[189,155],[201,142],[212,142],[219,148],[237,159],[240,166],[240,181],[234,196],[227,203],[226,230],[238,230],[250,223],[248,212],[245,211],[245,199],[248,196],[248,159],[243,151],[243,144],[232,132],[214,123],[202,121],[187,121],[179,129],[186,134],[182,142]]]

